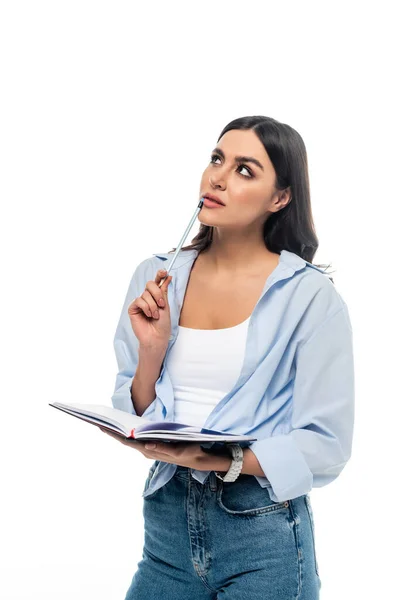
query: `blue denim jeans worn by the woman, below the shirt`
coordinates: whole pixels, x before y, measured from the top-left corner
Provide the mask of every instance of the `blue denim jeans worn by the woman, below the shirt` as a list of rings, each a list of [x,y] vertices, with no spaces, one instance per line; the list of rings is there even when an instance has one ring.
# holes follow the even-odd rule
[[[159,461],[150,468],[144,491]],[[144,547],[125,600],[316,600],[308,494],[273,502],[252,475],[204,485],[178,466],[143,499]]]

